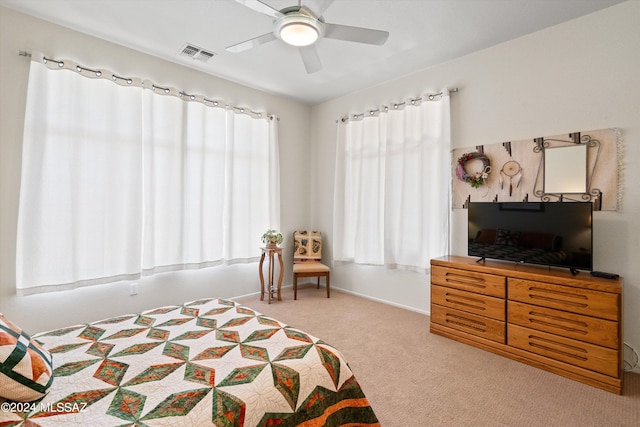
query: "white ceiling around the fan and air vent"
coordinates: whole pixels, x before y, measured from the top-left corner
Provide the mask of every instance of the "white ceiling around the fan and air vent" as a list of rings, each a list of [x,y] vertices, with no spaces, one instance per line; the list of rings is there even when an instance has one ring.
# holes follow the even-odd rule
[[[298,4],[262,1],[278,10]],[[383,46],[321,39],[316,48],[323,69],[313,74],[305,71],[297,49],[280,40],[227,52],[228,46],[269,33],[273,24],[269,16],[234,0],[0,0],[0,6],[317,104],[622,1],[336,0],[323,14],[326,22],[385,30],[390,36]],[[217,55],[206,63],[180,56],[187,43]]]

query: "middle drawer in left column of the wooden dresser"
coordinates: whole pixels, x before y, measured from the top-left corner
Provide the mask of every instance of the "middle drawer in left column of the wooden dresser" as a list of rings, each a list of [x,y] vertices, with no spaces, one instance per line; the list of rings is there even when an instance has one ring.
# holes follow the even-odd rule
[[[504,321],[506,317],[503,299],[459,289],[432,285],[431,302],[496,320]]]

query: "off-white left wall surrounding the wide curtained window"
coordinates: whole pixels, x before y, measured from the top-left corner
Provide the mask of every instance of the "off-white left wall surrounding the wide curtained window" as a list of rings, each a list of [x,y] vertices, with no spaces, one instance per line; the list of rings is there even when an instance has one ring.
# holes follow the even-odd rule
[[[39,50],[51,58],[69,58],[87,67],[148,78],[187,93],[224,99],[232,105],[280,117],[281,229],[287,235],[309,223],[310,197],[304,176],[309,157],[310,107],[159,60],[0,7],[0,312],[30,332],[139,312],[202,297],[234,297],[259,290],[257,264],[221,266],[161,274],[129,284],[94,286],[28,297],[15,295],[15,247],[20,189],[21,140],[29,60],[19,50]],[[214,59],[215,61],[215,59]],[[256,256],[259,249],[256,247]],[[289,260],[292,250],[285,248]],[[291,283],[290,263],[285,284]]]

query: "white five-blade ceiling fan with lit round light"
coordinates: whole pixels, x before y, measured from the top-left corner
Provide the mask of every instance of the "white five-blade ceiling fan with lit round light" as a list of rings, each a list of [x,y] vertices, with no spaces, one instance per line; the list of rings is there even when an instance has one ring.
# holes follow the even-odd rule
[[[307,73],[322,69],[315,43],[323,37],[381,46],[389,37],[387,31],[324,22],[322,14],[334,0],[306,0],[304,5],[276,10],[260,0],[236,2],[274,18],[273,31],[226,48],[229,52],[243,52],[274,40],[298,47]]]

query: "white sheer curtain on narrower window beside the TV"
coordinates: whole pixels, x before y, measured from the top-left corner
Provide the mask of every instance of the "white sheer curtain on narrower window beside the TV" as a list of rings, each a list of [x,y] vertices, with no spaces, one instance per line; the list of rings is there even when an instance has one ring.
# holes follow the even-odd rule
[[[450,112],[433,101],[338,123],[335,261],[426,271],[447,253]]]

